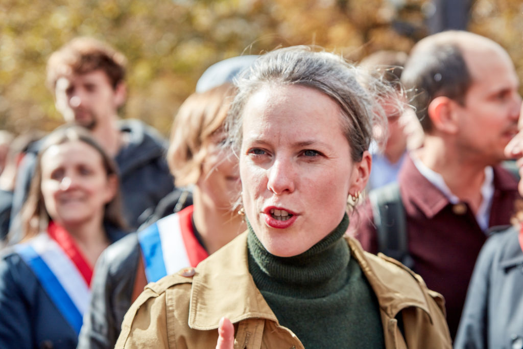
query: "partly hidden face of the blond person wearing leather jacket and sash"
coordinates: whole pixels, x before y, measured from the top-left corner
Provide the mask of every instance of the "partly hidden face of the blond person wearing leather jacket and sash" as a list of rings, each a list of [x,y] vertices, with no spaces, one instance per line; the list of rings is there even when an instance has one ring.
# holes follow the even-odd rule
[[[216,209],[231,211],[242,185],[238,159],[230,147],[223,147],[225,138],[224,131],[215,132],[210,137],[197,186]]]

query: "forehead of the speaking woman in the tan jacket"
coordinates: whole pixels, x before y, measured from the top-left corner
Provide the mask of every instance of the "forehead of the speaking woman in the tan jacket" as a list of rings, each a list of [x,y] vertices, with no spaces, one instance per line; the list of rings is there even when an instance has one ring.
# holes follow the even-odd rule
[[[266,85],[253,94],[243,110],[247,137],[320,139],[343,136],[340,108],[331,97],[311,87]]]

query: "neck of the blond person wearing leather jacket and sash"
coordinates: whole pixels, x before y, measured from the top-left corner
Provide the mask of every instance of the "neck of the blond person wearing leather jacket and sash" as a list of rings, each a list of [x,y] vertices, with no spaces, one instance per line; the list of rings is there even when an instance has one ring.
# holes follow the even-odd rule
[[[246,229],[240,215],[230,207],[216,207],[214,201],[198,186],[194,187],[192,201],[192,219],[209,254],[219,250]]]

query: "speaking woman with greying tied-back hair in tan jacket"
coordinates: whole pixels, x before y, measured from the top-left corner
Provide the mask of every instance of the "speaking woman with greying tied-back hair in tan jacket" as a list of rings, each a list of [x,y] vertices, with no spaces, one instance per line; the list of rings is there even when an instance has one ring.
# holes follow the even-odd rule
[[[304,47],[261,56],[237,87],[229,134],[248,230],[147,286],[117,347],[449,348],[441,296],[344,238],[384,121],[372,91],[390,87]]]

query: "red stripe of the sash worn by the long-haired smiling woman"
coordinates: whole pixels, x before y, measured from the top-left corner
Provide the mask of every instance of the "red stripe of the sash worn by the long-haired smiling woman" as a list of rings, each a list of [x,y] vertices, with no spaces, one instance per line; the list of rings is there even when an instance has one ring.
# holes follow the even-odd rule
[[[51,239],[58,243],[65,254],[71,258],[87,285],[90,286],[91,278],[93,277],[93,267],[89,265],[82,251],[78,249],[71,234],[53,221],[49,222],[47,233]]]

